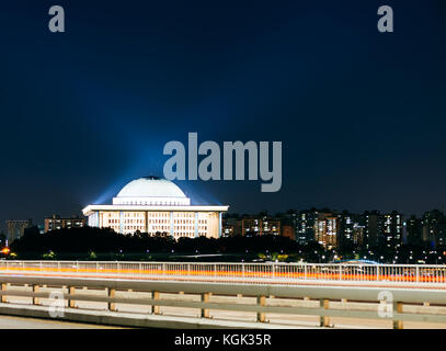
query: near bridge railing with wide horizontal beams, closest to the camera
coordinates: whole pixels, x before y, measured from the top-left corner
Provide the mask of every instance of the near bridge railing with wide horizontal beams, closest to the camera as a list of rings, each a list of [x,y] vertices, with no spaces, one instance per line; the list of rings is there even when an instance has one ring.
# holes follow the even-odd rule
[[[54,264],[55,262],[52,262]],[[68,265],[61,262],[60,267]],[[76,262],[70,262],[78,267]],[[87,264],[87,263],[84,263]],[[104,263],[111,264],[111,263]],[[133,265],[139,263],[133,263]],[[18,265],[15,262],[12,265]],[[35,262],[34,265],[39,265]],[[89,262],[89,268],[94,263]],[[100,264],[98,264],[101,268]],[[153,265],[155,267],[155,265]],[[54,267],[53,267],[54,268]],[[140,318],[141,314],[169,316],[170,327],[185,327],[184,309],[193,314],[195,327],[202,326],[206,318],[213,318],[216,328],[225,310],[226,320],[239,321],[240,313],[243,320],[256,321],[256,328],[262,328],[268,319],[275,319],[279,326],[293,325],[290,317],[298,322],[298,316],[317,317],[315,321],[320,327],[342,326],[342,318],[348,318],[357,326],[359,319],[389,321],[388,327],[403,328],[403,322],[438,322],[446,325],[446,294],[442,290],[421,288],[386,288],[380,287],[348,287],[335,286],[299,286],[272,284],[219,284],[215,282],[178,282],[178,281],[136,281],[110,279],[83,279],[64,276],[18,276],[0,275],[0,313],[24,314],[43,318],[68,318],[68,320],[89,320],[91,310],[105,310],[96,315],[96,322],[103,324],[111,318],[140,327],[152,327],[153,324],[167,318]],[[57,293],[58,297],[55,297]],[[64,316],[52,316],[55,298],[57,306],[64,308]],[[341,302],[340,302],[341,301]],[[61,304],[59,304],[61,303]],[[85,306],[88,303],[88,307]],[[16,308],[18,305],[37,305],[35,309]],[[93,304],[93,305],[92,305]],[[14,306],[12,306],[14,305]],[[129,310],[129,306],[134,306]],[[416,306],[419,305],[419,306]],[[47,307],[45,309],[44,307]],[[138,306],[135,308],[135,306]],[[140,308],[139,308],[140,306]],[[68,308],[67,308],[68,307]],[[142,308],[144,307],[144,308]],[[149,308],[147,308],[149,307]],[[174,310],[169,309],[175,307]],[[87,308],[87,309],[83,309]],[[175,316],[178,308],[182,309],[182,321]],[[38,315],[33,315],[33,312]],[[85,313],[82,313],[85,310]],[[201,313],[199,313],[201,310]],[[201,320],[197,321],[196,313]],[[134,321],[125,321],[131,319]],[[178,316],[178,315],[176,315]],[[190,313],[187,313],[190,316]],[[256,318],[255,318],[256,316]],[[156,316],[155,316],[156,317]],[[341,317],[341,319],[338,319]],[[69,319],[78,318],[78,319]],[[254,319],[255,318],[255,319]],[[318,322],[319,319],[319,322]],[[222,319],[221,319],[222,320]],[[356,321],[354,321],[356,320]],[[183,325],[182,325],[183,322]],[[150,325],[152,324],[152,325]],[[317,326],[315,325],[315,326]],[[251,326],[252,327],[252,326]]]

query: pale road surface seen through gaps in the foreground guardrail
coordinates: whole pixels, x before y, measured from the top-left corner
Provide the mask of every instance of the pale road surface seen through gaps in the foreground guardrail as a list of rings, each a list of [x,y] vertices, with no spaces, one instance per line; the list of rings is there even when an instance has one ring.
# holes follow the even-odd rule
[[[9,290],[18,290],[18,291],[31,291],[30,287],[24,286],[10,286]],[[46,288],[43,287],[41,291],[62,291],[60,288]],[[77,294],[89,294],[89,295],[102,295],[105,296],[105,292],[103,290],[77,290]],[[116,297],[149,297],[150,293],[144,292],[116,292]],[[192,295],[192,294],[168,294],[162,293],[160,294],[160,298],[162,299],[183,299],[183,301],[196,301],[201,299],[199,295]],[[21,296],[11,296],[8,297],[9,303],[12,304],[31,304],[30,297],[21,297]],[[285,301],[281,298],[267,298],[268,305],[276,305],[276,306],[295,306],[295,307],[318,307],[319,301],[305,301],[305,299],[295,299],[295,301]],[[210,296],[210,302],[216,303],[244,303],[244,304],[253,304],[255,303],[255,297],[236,297],[236,296]],[[41,299],[42,305],[48,306],[49,301],[46,298]],[[333,308],[342,308],[342,309],[377,309],[378,304],[370,304],[370,303],[350,303],[350,302],[332,302],[330,306]],[[76,307],[79,309],[95,309],[95,310],[105,310],[107,308],[106,303],[98,303],[98,302],[76,302]],[[116,304],[116,308],[118,312],[123,313],[136,313],[136,314],[149,314],[150,306],[144,305],[130,305],[130,304]],[[446,314],[446,307],[426,307],[421,305],[407,305],[404,306],[404,310],[410,313],[436,313],[436,314]],[[192,317],[197,318],[201,315],[201,310],[196,308],[184,308],[184,307],[160,307],[160,312],[164,316],[179,316],[179,317]],[[226,319],[226,320],[240,320],[240,321],[255,321],[256,314],[255,313],[244,313],[244,312],[227,312],[227,310],[210,310],[210,317],[213,319]],[[106,328],[104,326],[98,325],[82,325],[82,324],[71,324],[71,322],[59,322],[55,320],[38,320],[34,319],[30,321],[30,327],[26,327],[25,321],[28,320],[27,318],[15,318],[15,317],[2,317],[2,318],[12,318],[11,320],[19,320],[22,324],[11,322],[9,325],[7,321],[0,320],[0,329],[1,328]],[[318,328],[319,326],[319,317],[318,316],[302,316],[302,315],[283,315],[283,314],[267,314],[267,319],[270,324],[274,324],[277,326],[294,326],[295,328]],[[382,320],[382,319],[355,319],[355,318],[346,318],[346,317],[332,317],[331,322],[334,325],[334,328],[361,328],[361,329],[388,329],[392,328],[392,321],[390,320]],[[35,327],[33,327],[35,326]],[[434,329],[445,329],[445,324],[421,324],[421,322],[404,322],[404,328],[412,329],[412,328],[434,328]]]

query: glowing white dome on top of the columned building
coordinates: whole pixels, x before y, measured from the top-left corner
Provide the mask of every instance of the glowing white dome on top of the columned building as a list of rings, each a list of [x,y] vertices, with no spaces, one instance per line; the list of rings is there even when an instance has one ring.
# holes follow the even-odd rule
[[[191,204],[183,191],[173,182],[158,177],[144,177],[125,185],[116,197],[114,205],[174,206]]]

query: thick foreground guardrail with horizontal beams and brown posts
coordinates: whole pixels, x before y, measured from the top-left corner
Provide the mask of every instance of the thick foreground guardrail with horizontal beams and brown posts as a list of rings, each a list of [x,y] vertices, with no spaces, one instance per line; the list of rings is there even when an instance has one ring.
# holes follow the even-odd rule
[[[0,296],[2,305],[8,305],[11,296],[30,297],[33,305],[44,305],[43,299],[50,298],[54,291],[62,291],[66,306],[73,308],[78,302],[106,303],[107,309],[116,312],[116,304],[131,304],[151,306],[152,315],[160,315],[161,307],[195,308],[201,310],[202,318],[211,318],[210,310],[245,312],[256,314],[258,322],[266,322],[267,315],[305,315],[318,316],[321,327],[332,326],[330,317],[345,317],[352,319],[381,319],[392,321],[393,328],[403,328],[404,321],[441,322],[446,324],[446,313],[408,313],[404,310],[408,304],[431,303],[446,307],[446,294],[437,290],[386,290],[382,298],[382,288],[377,287],[309,287],[287,285],[247,285],[247,284],[220,284],[220,283],[195,283],[195,282],[153,282],[107,279],[79,279],[79,278],[50,278],[50,276],[12,276],[0,275]],[[25,285],[27,291],[13,288],[13,285]],[[78,290],[82,288],[79,294]],[[84,291],[87,288],[87,292]],[[92,294],[89,290],[105,290],[105,294]],[[127,295],[116,297],[116,292],[123,291]],[[129,292],[130,291],[130,292]],[[138,297],[135,292],[146,292],[147,297]],[[181,294],[179,294],[181,292]],[[163,294],[175,294],[172,298],[163,298]],[[199,295],[198,301],[186,301],[184,294]],[[255,297],[254,303],[216,302],[217,295],[232,295],[240,297]],[[150,296],[150,297],[149,297]],[[389,301],[389,296],[391,299]],[[274,298],[271,298],[274,297]],[[319,301],[318,307],[284,305],[285,301]],[[281,305],[274,302],[281,299]],[[355,308],[333,308],[332,301],[348,299],[348,302],[375,303],[378,308],[364,310]],[[385,304],[382,304],[385,303]],[[379,314],[380,306],[387,305],[390,313]],[[425,304],[426,305],[426,304]],[[49,305],[47,305],[49,306]],[[390,308],[389,308],[390,307]],[[89,309],[92,307],[90,306]],[[435,307],[426,307],[427,310]],[[98,308],[100,309],[100,308]],[[126,312],[128,315],[128,312]],[[214,317],[213,317],[214,318]],[[228,315],[225,315],[228,318]],[[240,318],[240,317],[238,317]],[[285,317],[286,318],[286,317]]]

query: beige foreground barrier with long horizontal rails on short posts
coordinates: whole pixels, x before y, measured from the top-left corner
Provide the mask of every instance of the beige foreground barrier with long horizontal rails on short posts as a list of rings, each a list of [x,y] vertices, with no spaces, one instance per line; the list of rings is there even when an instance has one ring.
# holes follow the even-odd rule
[[[289,286],[289,285],[245,285],[245,284],[222,284],[222,283],[192,283],[192,282],[172,282],[172,281],[135,281],[135,280],[100,280],[100,279],[78,279],[78,278],[42,278],[42,276],[12,276],[0,275],[0,291],[1,310],[10,310],[14,315],[27,316],[31,312],[34,317],[48,316],[48,307],[42,306],[44,299],[50,298],[50,291],[41,288],[46,285],[46,290],[52,287],[60,292],[60,296],[68,302],[67,316],[71,318],[68,320],[100,322],[100,324],[114,324],[121,326],[163,326],[162,328],[202,328],[204,326],[211,326],[218,328],[226,328],[227,326],[242,328],[242,321],[225,321],[220,324],[218,320],[211,320],[209,317],[210,310],[226,310],[226,312],[243,312],[253,313],[256,315],[256,322],[249,324],[249,328],[265,327],[267,324],[268,314],[281,315],[304,315],[320,317],[321,327],[330,327],[332,317],[346,317],[357,319],[381,319],[392,321],[394,328],[402,328],[403,321],[418,321],[418,322],[437,322],[446,324],[446,314],[434,312],[432,313],[409,313],[404,309],[407,304],[424,304],[424,308],[432,306],[446,306],[446,294],[438,290],[416,290],[416,288],[389,288],[386,290],[386,296],[391,296],[391,301],[387,301],[385,314],[379,314],[382,303],[382,288],[378,287],[328,287],[328,286]],[[28,286],[24,290],[13,288],[13,286]],[[87,288],[87,290],[85,290]],[[90,290],[102,290],[103,294],[93,294]],[[131,292],[129,292],[131,291]],[[81,293],[82,292],[82,293]],[[126,292],[128,296],[119,297],[118,292]],[[150,294],[144,297],[137,297],[137,293]],[[182,294],[180,294],[182,292]],[[161,298],[161,293],[175,294],[171,298]],[[186,301],[184,296],[193,294],[201,296],[198,301]],[[131,297],[130,297],[131,295]],[[231,302],[216,302],[215,297],[218,296],[233,296],[235,301]],[[26,297],[31,298],[32,306],[18,307],[4,303],[12,297]],[[135,297],[134,297],[135,296]],[[213,296],[214,301],[210,299]],[[237,296],[243,296],[238,298]],[[266,296],[274,296],[270,298],[270,304],[266,303]],[[247,297],[253,297],[253,303],[241,302]],[[319,306],[293,306],[290,302],[302,298],[319,301]],[[281,304],[272,304],[277,301]],[[289,304],[286,305],[286,302]],[[356,303],[370,303],[377,308],[374,309],[352,309],[332,307],[335,305],[344,305],[348,301],[348,306]],[[107,306],[107,310],[87,310],[75,308],[77,303],[91,302],[103,303]],[[333,302],[333,304],[332,304]],[[432,306],[426,306],[428,303]],[[140,306],[151,306],[151,314],[126,314],[116,312],[117,304],[130,304]],[[10,308],[11,307],[11,308]],[[195,308],[201,310],[201,318],[186,319],[182,317],[161,316],[160,307],[178,307],[178,308]],[[45,312],[45,313],[43,313]],[[72,319],[75,318],[76,319]],[[82,317],[84,316],[84,317]],[[125,317],[124,317],[125,316]],[[135,318],[133,318],[133,317]],[[150,318],[149,318],[150,317]],[[164,318],[165,317],[165,318]],[[79,319],[80,318],[80,319]],[[81,318],[87,318],[83,320]],[[104,322],[105,319],[108,320]],[[122,322],[119,318],[124,318]],[[180,319],[172,319],[180,318]],[[131,321],[135,319],[134,321]],[[113,322],[112,322],[113,320]],[[146,321],[141,321],[146,320]],[[174,320],[178,320],[175,324]],[[180,322],[180,320],[182,320]],[[150,322],[149,322],[150,321]],[[274,327],[274,326],[271,326]],[[282,325],[281,328],[286,327]]]

